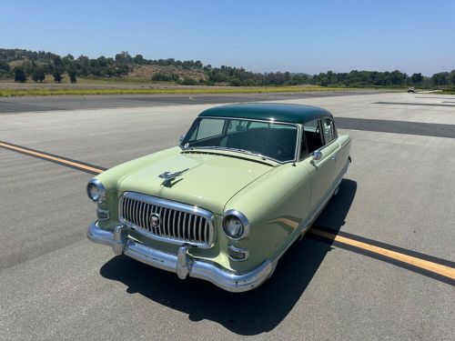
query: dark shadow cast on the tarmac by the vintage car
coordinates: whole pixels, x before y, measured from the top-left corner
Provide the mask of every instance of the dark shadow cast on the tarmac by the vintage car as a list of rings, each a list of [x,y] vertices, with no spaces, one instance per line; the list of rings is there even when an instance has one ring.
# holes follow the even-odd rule
[[[335,231],[344,225],[356,195],[357,183],[343,179],[316,224]],[[102,276],[124,283],[126,292],[139,293],[160,305],[188,315],[191,321],[208,319],[242,336],[274,329],[302,296],[330,242],[309,236],[296,242],[278,263],[275,274],[256,290],[233,294],[195,278],[182,281],[175,274],[146,266],[127,256],[116,256],[102,266]]]

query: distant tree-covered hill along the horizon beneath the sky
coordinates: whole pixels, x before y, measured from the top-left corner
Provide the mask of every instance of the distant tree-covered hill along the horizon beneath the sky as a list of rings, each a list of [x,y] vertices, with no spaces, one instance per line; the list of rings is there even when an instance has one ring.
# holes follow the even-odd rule
[[[431,77],[421,74],[407,75],[391,72],[357,71],[335,73],[328,71],[319,75],[304,73],[254,73],[243,67],[222,65],[212,67],[200,61],[180,61],[174,58],[146,59],[143,55],[129,55],[123,51],[114,57],[101,55],[88,58],[86,55],[56,55],[45,51],[0,48],[0,79],[15,79],[16,82],[33,80],[41,82],[45,75],[53,75],[57,83],[68,77],[72,83],[78,77],[127,78],[150,82],[171,82],[177,85],[321,85],[321,86],[453,86],[455,70],[441,72]]]

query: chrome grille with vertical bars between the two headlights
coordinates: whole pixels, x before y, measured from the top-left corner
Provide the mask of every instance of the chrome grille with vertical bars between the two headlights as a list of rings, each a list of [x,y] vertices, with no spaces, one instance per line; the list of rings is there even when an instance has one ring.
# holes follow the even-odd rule
[[[212,245],[213,215],[196,206],[126,192],[120,199],[119,216],[127,226],[160,241],[206,248]],[[159,221],[156,226],[152,216]]]

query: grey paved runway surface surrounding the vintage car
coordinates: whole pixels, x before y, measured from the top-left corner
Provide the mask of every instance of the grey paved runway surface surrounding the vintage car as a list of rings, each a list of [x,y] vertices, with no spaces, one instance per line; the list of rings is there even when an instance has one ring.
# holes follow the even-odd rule
[[[240,295],[86,239],[86,181],[176,145],[220,99],[1,99],[0,339],[451,340],[453,96],[312,95],[284,102],[328,108],[353,162],[312,233]]]

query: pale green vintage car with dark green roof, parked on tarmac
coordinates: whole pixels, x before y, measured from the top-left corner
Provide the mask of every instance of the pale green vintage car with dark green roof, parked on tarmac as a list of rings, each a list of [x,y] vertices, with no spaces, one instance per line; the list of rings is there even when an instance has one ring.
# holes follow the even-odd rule
[[[94,177],[90,240],[231,292],[261,285],[338,192],[349,135],[307,105],[223,105],[176,147]]]

